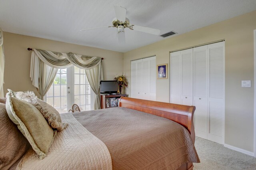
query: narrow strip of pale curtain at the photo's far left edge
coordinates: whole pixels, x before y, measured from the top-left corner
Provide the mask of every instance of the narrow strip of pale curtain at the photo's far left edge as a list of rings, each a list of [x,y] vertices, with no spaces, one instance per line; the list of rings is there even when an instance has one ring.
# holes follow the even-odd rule
[[[4,97],[4,38],[3,30],[0,28],[0,97]]]

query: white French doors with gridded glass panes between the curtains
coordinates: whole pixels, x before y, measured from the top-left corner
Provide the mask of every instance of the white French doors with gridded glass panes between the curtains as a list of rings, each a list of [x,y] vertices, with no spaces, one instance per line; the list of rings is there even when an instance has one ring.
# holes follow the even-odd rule
[[[44,100],[59,113],[67,113],[73,104],[77,104],[81,111],[94,109],[94,92],[84,69],[76,66],[58,69]]]

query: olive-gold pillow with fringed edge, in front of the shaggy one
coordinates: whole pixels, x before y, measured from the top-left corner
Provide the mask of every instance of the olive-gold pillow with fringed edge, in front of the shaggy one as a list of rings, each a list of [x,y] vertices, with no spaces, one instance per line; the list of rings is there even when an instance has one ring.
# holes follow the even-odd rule
[[[28,139],[39,158],[43,159],[52,144],[56,131],[52,130],[33,105],[12,97],[11,92],[6,94],[6,111],[12,122]]]

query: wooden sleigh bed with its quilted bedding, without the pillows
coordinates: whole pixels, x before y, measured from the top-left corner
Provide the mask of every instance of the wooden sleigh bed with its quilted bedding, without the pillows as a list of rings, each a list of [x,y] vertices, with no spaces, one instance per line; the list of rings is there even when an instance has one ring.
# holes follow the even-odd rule
[[[61,114],[69,126],[57,132],[47,156],[40,160],[28,148],[11,168],[192,170],[200,162],[194,106],[128,97],[119,106]]]

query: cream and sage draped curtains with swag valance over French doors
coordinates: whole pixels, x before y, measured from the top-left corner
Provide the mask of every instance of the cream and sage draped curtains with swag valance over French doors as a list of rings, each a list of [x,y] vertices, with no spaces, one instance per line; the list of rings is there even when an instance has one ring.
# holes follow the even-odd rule
[[[95,93],[94,109],[100,109],[100,80],[103,79],[101,57],[89,57],[74,53],[56,53],[33,49],[31,55],[30,77],[40,97],[46,95],[58,69],[72,65],[86,70],[86,75]]]

